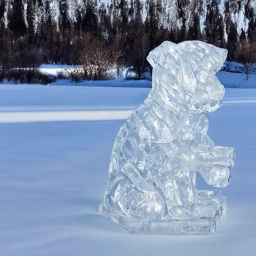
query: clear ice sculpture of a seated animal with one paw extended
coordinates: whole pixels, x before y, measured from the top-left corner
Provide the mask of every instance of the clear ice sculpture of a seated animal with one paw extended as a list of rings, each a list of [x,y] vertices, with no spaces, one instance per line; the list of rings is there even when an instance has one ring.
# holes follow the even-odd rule
[[[115,139],[100,214],[130,232],[217,230],[226,198],[196,190],[195,176],[214,187],[230,182],[234,149],[207,135],[208,112],[224,96],[215,73],[226,55],[201,41],[164,41],[149,53],[152,89]]]

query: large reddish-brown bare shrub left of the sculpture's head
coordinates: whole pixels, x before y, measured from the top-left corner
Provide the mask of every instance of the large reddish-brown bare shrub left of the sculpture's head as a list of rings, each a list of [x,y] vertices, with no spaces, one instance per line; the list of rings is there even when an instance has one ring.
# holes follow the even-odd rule
[[[87,79],[103,79],[110,66],[111,51],[103,39],[86,33],[83,38],[83,49],[79,52],[79,61]]]

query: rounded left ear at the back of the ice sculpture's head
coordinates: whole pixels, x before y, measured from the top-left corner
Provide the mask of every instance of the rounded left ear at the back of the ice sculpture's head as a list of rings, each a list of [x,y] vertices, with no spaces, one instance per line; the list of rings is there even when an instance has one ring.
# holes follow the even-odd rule
[[[177,52],[176,43],[164,41],[159,46],[151,50],[146,59],[152,67],[156,67],[157,64],[160,64],[164,68],[166,59],[169,57],[169,55],[173,55],[175,58]]]

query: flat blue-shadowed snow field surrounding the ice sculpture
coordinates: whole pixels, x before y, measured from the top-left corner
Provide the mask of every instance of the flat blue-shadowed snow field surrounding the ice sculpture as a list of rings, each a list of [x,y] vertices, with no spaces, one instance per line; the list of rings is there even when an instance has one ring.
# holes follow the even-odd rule
[[[97,214],[116,133],[148,92],[0,85],[0,255],[255,255],[256,89],[226,89],[210,114],[215,143],[236,148],[218,233],[132,235]]]

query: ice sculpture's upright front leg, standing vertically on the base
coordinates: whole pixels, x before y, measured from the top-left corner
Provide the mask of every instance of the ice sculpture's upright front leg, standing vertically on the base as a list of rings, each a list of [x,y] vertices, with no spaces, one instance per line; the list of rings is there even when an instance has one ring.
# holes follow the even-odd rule
[[[180,139],[157,146],[168,157],[158,184],[165,196],[168,214],[174,219],[196,218],[195,173],[200,161]]]

